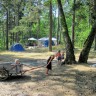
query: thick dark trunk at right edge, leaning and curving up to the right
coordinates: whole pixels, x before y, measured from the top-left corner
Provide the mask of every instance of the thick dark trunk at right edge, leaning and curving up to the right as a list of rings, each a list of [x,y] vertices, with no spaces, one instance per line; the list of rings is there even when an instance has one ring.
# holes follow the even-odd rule
[[[84,43],[83,49],[80,53],[79,60],[78,60],[79,63],[87,63],[88,55],[89,55],[92,43],[94,41],[94,37],[96,35],[96,0],[92,1],[91,11],[93,13],[93,14],[91,14],[91,18],[93,21],[93,27],[92,27],[91,32],[90,32],[89,36],[87,37],[87,39]]]

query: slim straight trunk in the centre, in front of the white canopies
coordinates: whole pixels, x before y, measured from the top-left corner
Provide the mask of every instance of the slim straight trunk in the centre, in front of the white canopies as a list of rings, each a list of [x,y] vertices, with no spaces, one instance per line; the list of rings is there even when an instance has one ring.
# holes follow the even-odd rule
[[[50,32],[49,32],[49,51],[52,51],[52,1],[50,0]]]

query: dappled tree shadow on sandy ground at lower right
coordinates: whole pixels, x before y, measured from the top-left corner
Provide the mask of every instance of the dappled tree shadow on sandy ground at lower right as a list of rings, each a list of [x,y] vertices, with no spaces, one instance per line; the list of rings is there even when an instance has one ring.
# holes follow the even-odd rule
[[[87,65],[85,65],[87,66]],[[71,96],[71,91],[74,90],[75,95],[72,96],[96,96],[96,71],[79,71],[71,69],[72,66],[67,66],[62,73],[53,73],[50,75],[51,80],[55,81],[54,85],[62,86],[65,96]],[[67,72],[68,71],[68,72]]]

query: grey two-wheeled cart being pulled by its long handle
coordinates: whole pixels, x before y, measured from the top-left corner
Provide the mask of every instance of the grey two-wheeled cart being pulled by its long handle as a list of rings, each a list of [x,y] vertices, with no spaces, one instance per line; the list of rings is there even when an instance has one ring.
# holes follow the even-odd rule
[[[0,63],[0,80],[6,80],[12,75],[22,75],[23,64],[12,62]]]

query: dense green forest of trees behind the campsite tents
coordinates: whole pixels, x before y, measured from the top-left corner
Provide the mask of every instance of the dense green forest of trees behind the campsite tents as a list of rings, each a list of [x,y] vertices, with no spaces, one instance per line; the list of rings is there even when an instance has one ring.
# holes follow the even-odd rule
[[[96,50],[95,13],[95,0],[0,0],[0,49],[49,37],[52,51],[51,38],[56,37],[66,49],[66,63],[75,63],[74,48],[82,48],[79,62],[87,62],[90,49]]]

